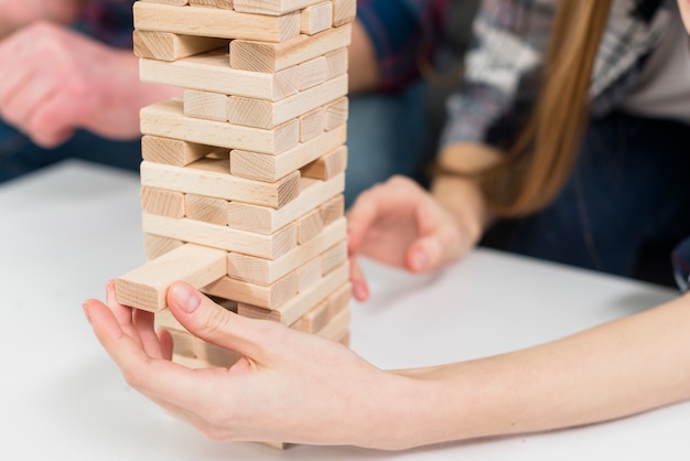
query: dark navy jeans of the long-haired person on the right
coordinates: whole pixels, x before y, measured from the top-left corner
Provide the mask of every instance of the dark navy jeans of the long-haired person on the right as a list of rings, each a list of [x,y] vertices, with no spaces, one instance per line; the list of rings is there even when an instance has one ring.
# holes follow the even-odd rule
[[[690,236],[690,127],[612,114],[592,120],[551,206],[499,224],[486,243],[518,254],[673,285]]]

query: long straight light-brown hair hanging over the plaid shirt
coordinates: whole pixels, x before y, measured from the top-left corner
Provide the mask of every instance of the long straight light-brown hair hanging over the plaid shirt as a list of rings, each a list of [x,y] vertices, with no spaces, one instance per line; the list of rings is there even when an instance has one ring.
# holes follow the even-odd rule
[[[547,206],[575,164],[589,120],[589,88],[612,0],[560,0],[543,87],[517,142],[479,176],[489,210],[521,216]]]

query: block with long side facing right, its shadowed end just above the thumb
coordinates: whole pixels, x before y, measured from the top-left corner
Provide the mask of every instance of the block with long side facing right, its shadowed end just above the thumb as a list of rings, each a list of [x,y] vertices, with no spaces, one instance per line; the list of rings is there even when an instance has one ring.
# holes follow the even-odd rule
[[[267,319],[280,322],[284,325],[291,325],[327,298],[330,293],[337,290],[348,280],[348,277],[349,264],[345,262],[338,269],[323,277],[317,283],[311,286],[306,291],[299,293],[277,309],[269,310],[239,303],[237,305],[237,313],[254,319]]]

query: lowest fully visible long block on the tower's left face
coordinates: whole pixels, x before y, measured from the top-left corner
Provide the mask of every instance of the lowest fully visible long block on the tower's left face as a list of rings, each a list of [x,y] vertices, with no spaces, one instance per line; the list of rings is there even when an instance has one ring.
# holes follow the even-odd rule
[[[285,226],[272,235],[260,235],[202,221],[174,219],[148,213],[143,213],[141,221],[143,232],[149,234],[227,251],[241,251],[258,258],[278,259],[297,247],[297,227],[294,225]],[[208,283],[211,281],[213,280],[209,280]]]

